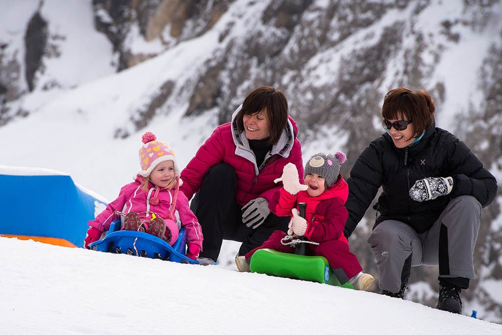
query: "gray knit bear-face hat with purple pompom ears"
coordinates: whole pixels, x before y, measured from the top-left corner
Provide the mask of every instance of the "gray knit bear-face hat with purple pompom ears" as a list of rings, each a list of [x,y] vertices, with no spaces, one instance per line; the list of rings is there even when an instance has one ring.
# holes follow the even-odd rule
[[[311,156],[307,164],[305,164],[305,176],[307,173],[316,173],[326,180],[326,184],[328,184],[329,188],[336,182],[336,179],[338,179],[340,165],[343,164],[346,159],[347,156],[341,151],[337,151],[334,155],[323,152],[317,153]]]

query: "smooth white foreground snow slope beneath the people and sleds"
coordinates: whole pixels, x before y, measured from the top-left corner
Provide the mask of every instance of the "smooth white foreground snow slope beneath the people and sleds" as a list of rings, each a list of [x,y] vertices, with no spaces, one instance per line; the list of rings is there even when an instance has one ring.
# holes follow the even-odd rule
[[[8,238],[0,249],[2,333],[502,333],[500,324],[411,301],[234,266]]]

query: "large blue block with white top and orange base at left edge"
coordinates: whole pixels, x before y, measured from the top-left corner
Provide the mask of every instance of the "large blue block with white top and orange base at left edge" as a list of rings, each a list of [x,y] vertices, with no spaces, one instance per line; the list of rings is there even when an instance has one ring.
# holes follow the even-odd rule
[[[59,171],[0,165],[0,236],[83,247],[106,200]]]

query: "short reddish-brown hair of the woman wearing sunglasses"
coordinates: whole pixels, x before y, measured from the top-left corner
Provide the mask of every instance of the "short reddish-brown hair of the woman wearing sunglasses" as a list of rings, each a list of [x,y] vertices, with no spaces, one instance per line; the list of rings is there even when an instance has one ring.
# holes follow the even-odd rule
[[[417,138],[424,130],[432,126],[436,103],[426,90],[413,91],[406,87],[391,89],[384,98],[382,116],[387,120],[398,120],[406,117],[413,121],[413,138]]]

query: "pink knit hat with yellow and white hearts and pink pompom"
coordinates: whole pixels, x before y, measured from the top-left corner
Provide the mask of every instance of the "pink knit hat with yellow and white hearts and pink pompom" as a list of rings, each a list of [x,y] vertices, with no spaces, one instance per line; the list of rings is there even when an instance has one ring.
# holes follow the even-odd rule
[[[148,177],[157,164],[164,161],[173,161],[174,176],[180,176],[180,168],[176,163],[174,151],[167,144],[157,141],[157,137],[150,132],[146,132],[142,137],[143,146],[140,148],[140,176]]]

